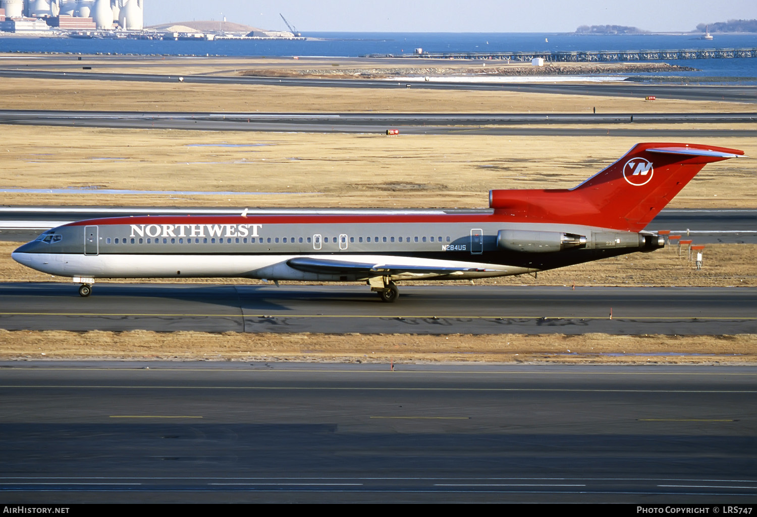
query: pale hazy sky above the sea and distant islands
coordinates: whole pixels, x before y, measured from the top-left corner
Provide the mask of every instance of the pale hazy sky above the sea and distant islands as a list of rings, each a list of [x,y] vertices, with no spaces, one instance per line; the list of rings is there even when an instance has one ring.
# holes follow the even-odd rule
[[[144,0],[145,26],[226,20],[301,33],[570,33],[580,25],[687,32],[698,23],[757,19],[757,0]]]

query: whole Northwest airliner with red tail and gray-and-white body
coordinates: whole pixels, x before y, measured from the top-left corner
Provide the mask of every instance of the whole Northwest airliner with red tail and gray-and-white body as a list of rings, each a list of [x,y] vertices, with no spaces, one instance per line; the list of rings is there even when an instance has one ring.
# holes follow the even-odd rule
[[[491,190],[493,212],[139,216],[45,231],[13,252],[73,277],[241,277],[365,281],[394,302],[399,280],[524,274],[665,246],[643,228],[707,163],[743,151],[637,144],[572,189]]]

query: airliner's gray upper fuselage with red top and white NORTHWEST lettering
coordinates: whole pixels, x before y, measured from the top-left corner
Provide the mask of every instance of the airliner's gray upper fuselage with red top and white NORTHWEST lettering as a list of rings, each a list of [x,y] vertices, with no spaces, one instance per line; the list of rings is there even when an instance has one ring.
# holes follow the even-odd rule
[[[513,252],[503,230],[567,232],[582,249]],[[608,233],[609,232],[609,233]],[[607,236],[612,234],[612,239]],[[48,236],[60,236],[45,239]],[[615,239],[622,237],[621,240]],[[58,240],[59,239],[59,240]],[[48,240],[48,242],[45,242]],[[617,240],[617,246],[615,245]],[[600,243],[612,246],[600,246]],[[575,224],[510,222],[466,215],[250,215],[92,219],[53,228],[16,252],[85,255],[406,255],[547,269],[634,251],[637,234]]]

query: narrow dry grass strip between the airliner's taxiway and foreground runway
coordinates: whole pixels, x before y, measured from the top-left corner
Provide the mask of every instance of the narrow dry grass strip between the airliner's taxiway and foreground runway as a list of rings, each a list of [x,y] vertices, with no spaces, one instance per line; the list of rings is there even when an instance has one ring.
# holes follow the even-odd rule
[[[757,336],[86,333],[0,330],[0,360],[754,364]]]

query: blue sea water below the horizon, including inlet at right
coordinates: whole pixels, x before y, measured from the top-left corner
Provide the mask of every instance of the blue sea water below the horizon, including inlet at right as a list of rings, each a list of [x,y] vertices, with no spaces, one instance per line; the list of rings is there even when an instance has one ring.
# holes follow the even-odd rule
[[[711,41],[694,34],[584,35],[574,33],[307,33],[307,41],[220,40],[151,41],[107,39],[0,38],[0,52],[73,54],[322,56],[410,54],[466,51],[602,51],[681,48],[757,48],[757,33],[715,34]],[[699,69],[667,75],[706,82],[757,80],[757,58],[673,60]],[[656,74],[664,76],[665,74]],[[713,80],[713,78],[715,78]]]

